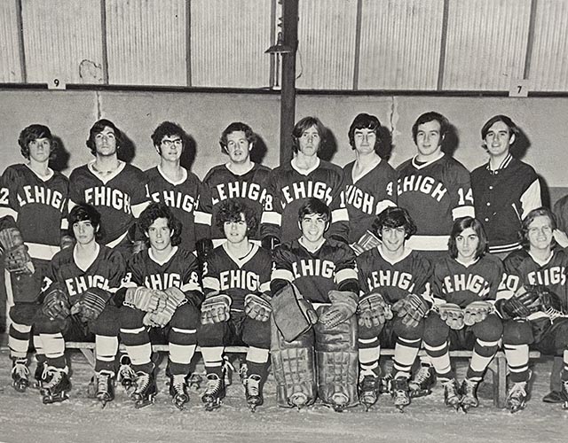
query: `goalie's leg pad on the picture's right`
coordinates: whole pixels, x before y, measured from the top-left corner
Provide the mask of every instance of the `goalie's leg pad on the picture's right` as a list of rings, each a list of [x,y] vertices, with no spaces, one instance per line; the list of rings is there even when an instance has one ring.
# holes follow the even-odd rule
[[[326,308],[319,307],[319,310]],[[321,323],[317,323],[314,328],[319,398],[335,409],[357,405],[359,403],[357,317],[353,315],[334,328],[327,328]]]

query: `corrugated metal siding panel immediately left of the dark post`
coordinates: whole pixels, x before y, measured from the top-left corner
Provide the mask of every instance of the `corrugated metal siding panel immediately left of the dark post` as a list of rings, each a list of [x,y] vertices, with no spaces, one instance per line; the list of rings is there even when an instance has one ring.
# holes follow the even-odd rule
[[[271,0],[192,0],[192,84],[267,87]]]

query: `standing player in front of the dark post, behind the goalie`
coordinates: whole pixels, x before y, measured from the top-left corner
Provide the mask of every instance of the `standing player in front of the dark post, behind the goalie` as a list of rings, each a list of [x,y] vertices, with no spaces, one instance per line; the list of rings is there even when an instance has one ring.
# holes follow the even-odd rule
[[[343,170],[318,157],[324,143],[323,125],[315,117],[305,117],[296,123],[292,142],[294,159],[273,169],[270,175],[272,206],[264,208],[260,232],[263,244],[272,247],[300,237],[297,212],[310,198],[319,198],[331,208],[327,237],[347,243],[349,215],[344,202]]]

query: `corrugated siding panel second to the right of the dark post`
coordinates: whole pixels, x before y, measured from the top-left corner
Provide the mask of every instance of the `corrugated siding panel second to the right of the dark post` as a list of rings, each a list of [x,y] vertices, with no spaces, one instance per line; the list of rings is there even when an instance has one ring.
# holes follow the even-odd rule
[[[364,0],[360,89],[436,89],[444,0]]]

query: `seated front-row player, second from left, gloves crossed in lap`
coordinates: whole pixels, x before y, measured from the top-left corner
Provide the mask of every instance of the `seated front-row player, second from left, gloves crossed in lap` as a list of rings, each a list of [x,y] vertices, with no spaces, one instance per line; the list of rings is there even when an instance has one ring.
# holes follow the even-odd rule
[[[140,214],[138,226],[150,248],[133,255],[117,300],[122,301],[121,340],[132,369],[136,408],[154,402],[156,384],[150,328],[159,328],[168,339],[170,395],[180,410],[189,401],[186,379],[197,345],[199,307],[203,299],[199,266],[193,253],[180,246],[182,226],[170,207],[153,203]]]

